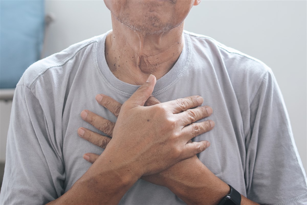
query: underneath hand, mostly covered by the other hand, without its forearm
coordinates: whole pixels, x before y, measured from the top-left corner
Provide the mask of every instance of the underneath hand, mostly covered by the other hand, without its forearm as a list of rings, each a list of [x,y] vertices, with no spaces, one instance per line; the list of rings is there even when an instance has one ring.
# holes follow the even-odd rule
[[[109,111],[111,111],[116,117],[119,115],[119,112],[122,106],[122,104],[120,104],[119,102],[115,101],[109,96],[100,95],[100,94],[96,96],[96,100],[98,101],[100,105],[104,106]],[[158,103],[160,103],[160,101],[158,101],[156,98],[151,96],[146,101],[145,106],[151,106],[151,105],[155,105]],[[206,110],[209,111],[208,113],[208,116],[209,116],[212,113],[212,108],[206,106]],[[88,123],[93,125],[95,128],[104,132],[105,134],[107,134],[107,136],[100,135],[99,133],[93,132],[86,128],[78,129],[79,136],[101,148],[106,148],[107,144],[110,142],[112,138],[112,132],[113,132],[115,123],[109,120],[106,120],[103,117],[96,115],[95,113],[90,112],[88,110],[86,112],[87,112],[87,116],[85,119],[83,118],[83,120],[87,121]],[[210,121],[208,121],[208,124],[210,126]],[[213,122],[213,125],[214,125],[214,122]],[[208,142],[207,147],[209,145],[210,143]],[[84,154],[83,157],[85,160],[91,163],[94,163],[95,160],[99,157],[99,155],[94,154],[94,153],[86,153]],[[172,183],[172,181],[180,181],[182,177],[185,177],[188,174],[190,174],[189,171],[191,169],[200,167],[202,165],[203,164],[200,162],[197,156],[193,156],[191,158],[182,160],[178,162],[177,164],[174,164],[170,168],[164,171],[161,171],[160,173],[157,173],[154,175],[143,176],[141,179],[146,180],[150,183],[154,183],[157,185],[167,187],[168,183]]]

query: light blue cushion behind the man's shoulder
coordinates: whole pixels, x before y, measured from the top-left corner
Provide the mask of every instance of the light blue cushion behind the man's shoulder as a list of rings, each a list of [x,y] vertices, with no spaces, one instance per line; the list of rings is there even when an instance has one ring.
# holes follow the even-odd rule
[[[15,88],[22,73],[40,59],[44,1],[0,1],[0,88]]]

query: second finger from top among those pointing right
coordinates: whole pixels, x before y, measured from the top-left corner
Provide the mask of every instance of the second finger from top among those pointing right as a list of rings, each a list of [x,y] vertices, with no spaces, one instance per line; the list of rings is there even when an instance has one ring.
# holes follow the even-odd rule
[[[202,106],[193,109],[188,109],[184,112],[178,113],[179,119],[183,120],[185,125],[196,122],[197,120],[208,117],[212,114],[212,108],[209,106]]]

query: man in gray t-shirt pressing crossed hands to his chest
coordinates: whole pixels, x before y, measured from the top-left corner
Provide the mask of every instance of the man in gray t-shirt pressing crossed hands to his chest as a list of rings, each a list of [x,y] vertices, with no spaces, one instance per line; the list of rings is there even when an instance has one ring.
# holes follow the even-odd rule
[[[233,204],[306,202],[271,70],[183,32],[199,2],[105,1],[112,31],[30,66],[16,87],[1,203],[218,204],[231,189]]]

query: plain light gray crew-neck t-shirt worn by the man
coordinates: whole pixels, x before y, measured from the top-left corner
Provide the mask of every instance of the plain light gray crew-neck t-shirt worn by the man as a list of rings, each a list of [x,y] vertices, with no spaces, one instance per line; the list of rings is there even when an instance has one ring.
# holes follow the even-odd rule
[[[99,132],[83,109],[106,119],[103,93],[120,103],[139,86],[117,79],[104,55],[106,34],[31,65],[17,84],[7,139],[1,204],[43,204],[64,194],[91,166],[86,152],[103,152],[77,135]],[[200,95],[213,108],[215,128],[194,140],[211,146],[199,159],[220,179],[260,204],[306,204],[306,176],[282,94],[261,61],[212,38],[184,32],[174,67],[157,80],[161,102]],[[124,69],[124,68],[123,68]],[[199,175],[201,178],[202,176]],[[184,204],[168,188],[139,179],[121,204]]]

